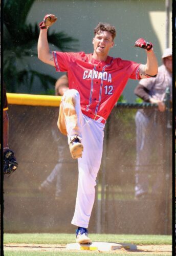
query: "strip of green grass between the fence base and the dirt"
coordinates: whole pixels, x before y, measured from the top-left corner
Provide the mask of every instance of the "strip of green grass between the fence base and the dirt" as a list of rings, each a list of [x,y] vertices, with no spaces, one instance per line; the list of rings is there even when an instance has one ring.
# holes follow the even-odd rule
[[[131,244],[172,244],[171,236],[146,234],[89,234],[94,242],[114,242]],[[75,243],[74,234],[64,233],[5,233],[4,244],[68,244]]]

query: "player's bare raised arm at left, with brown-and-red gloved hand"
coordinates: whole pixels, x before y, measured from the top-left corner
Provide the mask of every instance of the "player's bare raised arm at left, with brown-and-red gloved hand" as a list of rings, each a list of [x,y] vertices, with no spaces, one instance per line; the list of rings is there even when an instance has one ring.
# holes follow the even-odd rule
[[[51,27],[55,22],[57,18],[53,14],[47,14],[43,21],[39,24],[40,27],[40,34],[38,38],[38,58],[52,66],[55,66],[54,59],[53,59],[53,53],[50,52],[49,44],[48,44],[48,37],[47,37],[47,30],[49,27]]]

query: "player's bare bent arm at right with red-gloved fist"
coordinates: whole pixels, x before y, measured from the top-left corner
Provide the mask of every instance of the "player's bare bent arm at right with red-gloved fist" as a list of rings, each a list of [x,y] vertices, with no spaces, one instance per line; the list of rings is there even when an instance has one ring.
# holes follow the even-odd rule
[[[151,42],[145,41],[143,38],[139,38],[135,42],[136,47],[140,47],[146,50],[147,62],[145,65],[141,65],[140,74],[141,78],[155,77],[158,74],[158,61],[155,53],[153,52],[153,46]]]

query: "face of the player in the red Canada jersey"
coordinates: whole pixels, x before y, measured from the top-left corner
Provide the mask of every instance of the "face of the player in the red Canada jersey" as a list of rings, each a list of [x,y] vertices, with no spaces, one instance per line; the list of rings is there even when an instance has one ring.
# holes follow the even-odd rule
[[[97,54],[108,54],[114,46],[112,35],[108,31],[100,31],[93,38],[94,51]]]

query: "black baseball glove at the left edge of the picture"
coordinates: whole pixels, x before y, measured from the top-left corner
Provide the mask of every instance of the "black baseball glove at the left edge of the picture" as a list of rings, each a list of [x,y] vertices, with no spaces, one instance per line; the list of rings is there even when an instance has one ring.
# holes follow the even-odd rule
[[[18,167],[14,152],[12,150],[6,150],[4,152],[4,174],[12,174]]]

